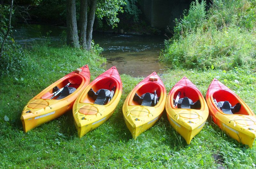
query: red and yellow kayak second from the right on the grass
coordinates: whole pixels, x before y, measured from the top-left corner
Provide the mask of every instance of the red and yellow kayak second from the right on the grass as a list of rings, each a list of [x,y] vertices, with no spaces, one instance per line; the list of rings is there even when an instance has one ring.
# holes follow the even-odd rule
[[[186,76],[170,91],[165,108],[172,127],[187,144],[203,129],[209,115],[203,95]]]

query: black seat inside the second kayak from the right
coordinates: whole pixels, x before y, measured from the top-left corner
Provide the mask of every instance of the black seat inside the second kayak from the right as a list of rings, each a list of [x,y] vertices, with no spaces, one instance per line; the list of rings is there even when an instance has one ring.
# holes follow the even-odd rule
[[[175,100],[173,99],[173,103],[175,103]],[[201,103],[200,101],[193,102],[188,97],[180,98],[177,104],[177,107],[180,109],[200,109]]]

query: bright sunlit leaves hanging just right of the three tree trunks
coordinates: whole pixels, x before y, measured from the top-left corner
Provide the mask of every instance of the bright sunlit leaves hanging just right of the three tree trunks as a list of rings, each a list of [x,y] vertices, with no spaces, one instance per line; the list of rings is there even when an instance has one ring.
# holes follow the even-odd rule
[[[118,12],[123,12],[124,0],[99,0],[97,1],[96,16],[99,19],[106,18],[108,25],[117,26]]]

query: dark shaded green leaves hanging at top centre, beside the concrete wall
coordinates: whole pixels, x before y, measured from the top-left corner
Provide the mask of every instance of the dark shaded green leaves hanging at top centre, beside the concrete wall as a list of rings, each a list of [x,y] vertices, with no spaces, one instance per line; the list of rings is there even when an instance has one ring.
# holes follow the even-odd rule
[[[133,18],[134,22],[139,22],[139,15],[141,13],[138,8],[138,0],[125,0],[124,12],[127,18]]]

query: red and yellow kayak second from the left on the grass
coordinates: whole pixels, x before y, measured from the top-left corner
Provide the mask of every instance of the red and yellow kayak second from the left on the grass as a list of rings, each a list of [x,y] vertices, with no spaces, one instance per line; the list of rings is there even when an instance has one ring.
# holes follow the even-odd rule
[[[108,120],[120,101],[122,90],[122,81],[115,66],[98,76],[84,89],[73,106],[79,137]]]

